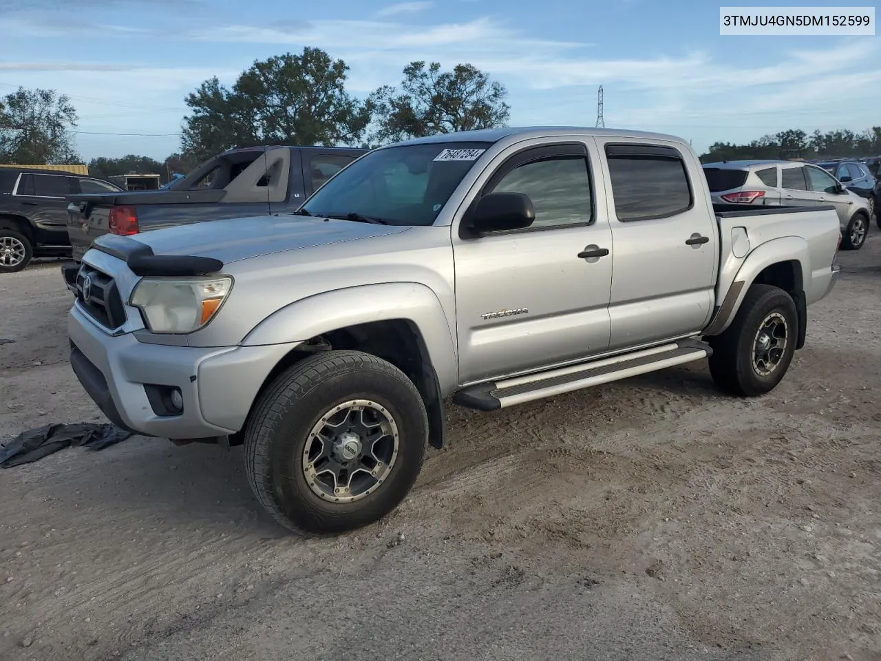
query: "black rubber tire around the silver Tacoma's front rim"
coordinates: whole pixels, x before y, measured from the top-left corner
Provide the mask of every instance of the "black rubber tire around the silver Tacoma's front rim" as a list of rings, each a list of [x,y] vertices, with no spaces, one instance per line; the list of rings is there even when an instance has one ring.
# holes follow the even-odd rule
[[[336,502],[310,486],[303,455],[322,417],[352,400],[369,400],[389,414],[398,433],[396,457],[372,491]],[[244,443],[251,488],[279,524],[292,531],[348,531],[385,516],[410,492],[426,455],[428,418],[416,387],[389,362],[355,351],[322,352],[288,368],[263,391]]]

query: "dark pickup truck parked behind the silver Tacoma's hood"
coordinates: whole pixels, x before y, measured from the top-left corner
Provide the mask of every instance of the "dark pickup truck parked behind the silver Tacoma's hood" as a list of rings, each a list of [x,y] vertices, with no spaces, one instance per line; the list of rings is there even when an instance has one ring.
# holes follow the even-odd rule
[[[164,190],[67,197],[67,233],[79,262],[102,234],[130,236],[205,220],[293,212],[366,149],[270,146],[233,149]],[[68,288],[78,264],[65,264]]]

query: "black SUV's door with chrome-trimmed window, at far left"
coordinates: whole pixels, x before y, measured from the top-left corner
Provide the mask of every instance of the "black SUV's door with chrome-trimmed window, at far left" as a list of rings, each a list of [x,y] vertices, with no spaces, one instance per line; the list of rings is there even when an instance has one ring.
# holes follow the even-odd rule
[[[67,175],[22,173],[13,195],[23,215],[37,228],[38,243],[67,246],[67,195],[78,192],[77,180]]]

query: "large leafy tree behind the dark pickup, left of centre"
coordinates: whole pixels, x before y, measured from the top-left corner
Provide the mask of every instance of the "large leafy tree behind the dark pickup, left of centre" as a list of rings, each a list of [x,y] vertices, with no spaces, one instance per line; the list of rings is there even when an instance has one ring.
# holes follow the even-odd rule
[[[255,61],[226,89],[204,81],[186,98],[183,152],[196,161],[232,147],[357,144],[371,108],[345,91],[349,67],[320,48]]]

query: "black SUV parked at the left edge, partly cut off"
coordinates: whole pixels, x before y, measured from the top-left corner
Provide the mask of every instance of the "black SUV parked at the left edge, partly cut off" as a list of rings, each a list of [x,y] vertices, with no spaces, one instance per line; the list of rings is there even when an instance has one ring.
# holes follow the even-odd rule
[[[70,256],[64,197],[118,190],[88,175],[0,167],[0,273],[21,271],[35,256]]]

